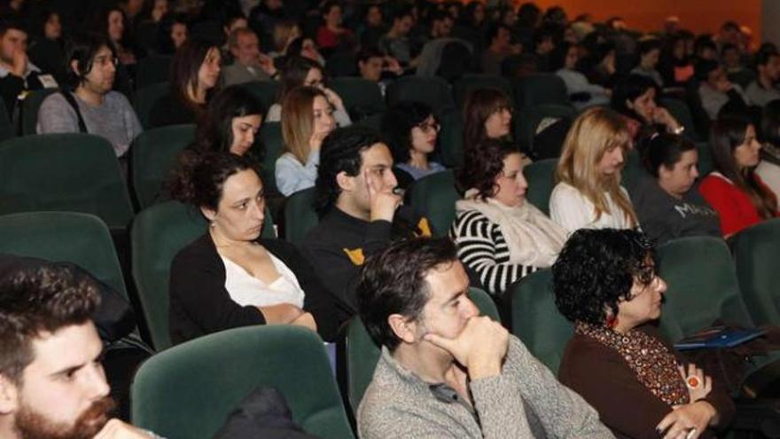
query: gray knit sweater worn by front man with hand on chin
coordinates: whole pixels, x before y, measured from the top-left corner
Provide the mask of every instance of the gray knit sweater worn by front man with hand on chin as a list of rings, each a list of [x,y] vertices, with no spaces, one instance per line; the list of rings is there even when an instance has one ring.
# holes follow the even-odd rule
[[[611,438],[598,413],[555,379],[515,337],[501,375],[474,380],[478,422],[464,404],[444,402],[430,384],[382,349],[357,414],[362,439]]]

